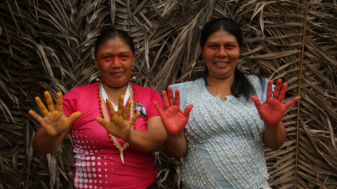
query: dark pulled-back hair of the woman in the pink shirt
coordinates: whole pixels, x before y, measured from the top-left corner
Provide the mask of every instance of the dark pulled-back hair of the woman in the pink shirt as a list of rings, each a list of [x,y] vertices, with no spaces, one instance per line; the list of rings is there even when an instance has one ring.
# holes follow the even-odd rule
[[[95,43],[95,57],[98,48],[109,39],[122,39],[128,46],[131,48],[132,53],[135,53],[135,44],[133,43],[132,38],[123,30],[117,28],[110,28],[100,32],[100,35],[96,39]]]

